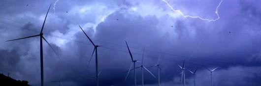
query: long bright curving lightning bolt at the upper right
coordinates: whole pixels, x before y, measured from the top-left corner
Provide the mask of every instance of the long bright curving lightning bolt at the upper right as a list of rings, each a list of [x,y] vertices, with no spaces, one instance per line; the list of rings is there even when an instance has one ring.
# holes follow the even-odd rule
[[[166,0],[162,0],[162,1],[164,1],[167,4],[167,6],[169,8],[171,8],[172,11],[179,13],[184,18],[187,18],[187,17],[189,17],[189,18],[198,18],[200,20],[204,20],[204,21],[208,21],[208,22],[215,22],[215,21],[219,20],[220,17],[219,17],[219,14],[218,14],[218,8],[219,8],[220,4],[223,2],[223,0],[221,0],[219,2],[219,5],[217,6],[216,11],[215,11],[215,13],[217,14],[218,18],[216,18],[214,20],[213,19],[210,20],[210,19],[205,19],[205,18],[199,17],[199,16],[184,15],[180,10],[174,9]]]

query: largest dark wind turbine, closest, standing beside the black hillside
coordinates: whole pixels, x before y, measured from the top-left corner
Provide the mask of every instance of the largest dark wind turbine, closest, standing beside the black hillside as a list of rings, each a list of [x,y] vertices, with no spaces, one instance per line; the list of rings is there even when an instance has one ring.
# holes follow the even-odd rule
[[[7,41],[14,41],[14,40],[20,40],[20,39],[26,39],[26,38],[32,38],[32,37],[36,37],[36,36],[40,36],[40,64],[41,64],[41,86],[43,86],[43,47],[42,47],[42,39],[51,47],[51,45],[48,43],[48,41],[43,37],[43,28],[44,28],[44,24],[45,24],[45,20],[47,18],[47,15],[48,15],[48,12],[50,10],[50,7],[51,7],[52,4],[50,4],[49,6],[49,9],[46,13],[46,16],[45,16],[45,19],[43,21],[43,25],[42,25],[42,28],[41,28],[41,32],[40,34],[37,34],[37,35],[33,35],[33,36],[28,36],[28,37],[23,37],[23,38],[18,38],[18,39],[13,39],[13,40],[7,40]],[[52,47],[51,47],[52,48]],[[54,51],[54,49],[52,48],[52,50]],[[55,51],[54,51],[55,52]],[[58,55],[56,52],[55,52],[56,55]]]

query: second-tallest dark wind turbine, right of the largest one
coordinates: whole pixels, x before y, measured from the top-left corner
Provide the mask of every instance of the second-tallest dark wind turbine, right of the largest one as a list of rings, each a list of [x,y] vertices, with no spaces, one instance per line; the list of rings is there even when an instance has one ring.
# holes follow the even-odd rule
[[[81,28],[81,26],[79,25],[79,27],[80,27],[80,29],[82,29]],[[96,56],[96,86],[99,86],[99,78],[98,78],[98,54],[97,54],[97,48],[98,47],[100,47],[100,46],[98,46],[98,45],[95,45],[94,44],[94,42],[90,39],[90,37],[84,32],[84,30],[82,29],[82,31],[83,31],[83,33],[86,35],[86,37],[92,42],[92,44],[93,44],[93,46],[94,46],[94,50],[93,50],[93,54],[92,54],[92,57],[93,57],[93,55],[94,55],[94,51],[95,51],[95,56]],[[91,59],[92,59],[92,57],[90,58],[90,61],[91,61]],[[90,63],[90,61],[89,61],[89,63]],[[88,63],[88,65],[89,65],[89,63]]]

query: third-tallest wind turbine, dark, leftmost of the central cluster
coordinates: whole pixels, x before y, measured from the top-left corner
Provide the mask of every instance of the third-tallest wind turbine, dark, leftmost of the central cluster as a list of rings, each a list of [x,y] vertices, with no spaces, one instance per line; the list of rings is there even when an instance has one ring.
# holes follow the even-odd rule
[[[131,55],[131,52],[130,52],[130,48],[129,48],[129,46],[128,46],[128,43],[127,43],[127,41],[125,41],[125,42],[126,42],[126,45],[127,45],[127,47],[128,47],[128,51],[129,51],[129,53],[130,53],[131,64],[130,64],[129,71],[128,71],[127,76],[125,77],[125,80],[124,80],[124,81],[126,81],[128,75],[129,75],[129,73],[130,73],[130,69],[131,69],[132,63],[133,63],[133,70],[134,70],[134,86],[137,86],[137,81],[136,81],[136,70],[135,70],[135,64],[136,64],[137,60],[133,60],[133,57],[132,57],[132,55]]]

